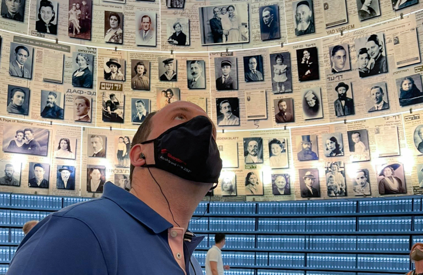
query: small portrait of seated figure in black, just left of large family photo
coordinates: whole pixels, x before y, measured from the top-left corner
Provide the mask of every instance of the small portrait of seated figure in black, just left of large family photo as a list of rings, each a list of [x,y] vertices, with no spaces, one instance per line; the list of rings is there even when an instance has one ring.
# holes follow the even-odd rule
[[[177,46],[190,45],[190,21],[188,17],[168,18],[167,37],[168,43]]]

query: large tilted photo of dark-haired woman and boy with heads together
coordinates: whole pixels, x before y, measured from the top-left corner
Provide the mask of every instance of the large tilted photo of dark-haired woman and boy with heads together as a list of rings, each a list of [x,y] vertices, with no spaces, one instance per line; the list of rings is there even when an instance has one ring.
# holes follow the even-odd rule
[[[355,48],[358,53],[357,67],[360,77],[388,72],[383,32],[356,39]],[[368,61],[366,61],[365,51],[367,51]]]

